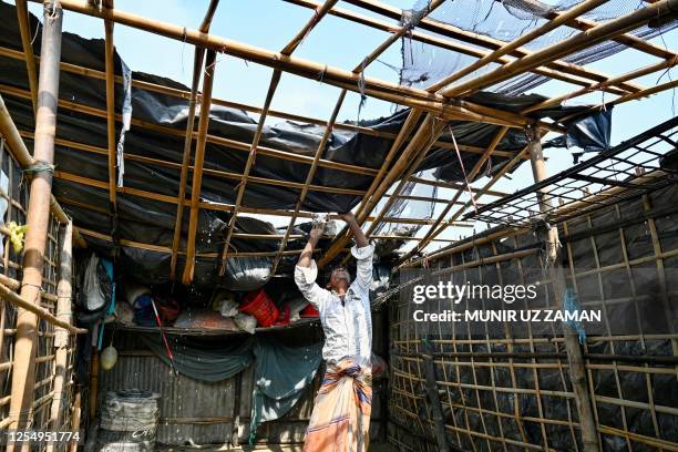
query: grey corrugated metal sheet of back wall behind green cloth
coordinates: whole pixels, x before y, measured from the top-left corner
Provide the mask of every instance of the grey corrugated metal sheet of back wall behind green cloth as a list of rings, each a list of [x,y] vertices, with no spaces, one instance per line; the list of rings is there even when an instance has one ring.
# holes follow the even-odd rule
[[[378,328],[374,329],[374,333],[379,335]],[[224,444],[232,442],[234,418],[236,417],[236,379],[240,378],[238,436],[240,443],[247,442],[254,387],[251,367],[243,371],[239,377],[208,383],[172,374],[170,368],[146,350],[133,332],[117,331],[115,347],[120,356],[112,370],[102,370],[100,401],[107,391],[123,388],[140,388],[158,392],[161,394],[161,424],[157,431],[160,443]],[[259,427],[257,442],[301,443],[319,384],[320,373],[314,386],[307,389],[305,396],[287,415]],[[374,391],[372,402],[372,433],[374,435],[379,435],[380,432],[380,424],[377,420],[381,414],[381,403],[377,392]]]

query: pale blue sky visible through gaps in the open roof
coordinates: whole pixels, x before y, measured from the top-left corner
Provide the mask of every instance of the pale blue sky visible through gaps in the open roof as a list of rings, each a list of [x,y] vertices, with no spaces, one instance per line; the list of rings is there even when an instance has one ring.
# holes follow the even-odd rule
[[[413,0],[387,0],[399,8],[411,8]],[[115,0],[115,7],[144,17],[166,21],[196,29],[207,8],[208,0]],[[359,11],[366,16],[374,16],[349,3],[340,1],[338,7]],[[41,7],[31,3],[31,11],[41,16]],[[306,23],[312,14],[311,10],[300,8],[281,0],[222,0],[217,9],[210,32],[224,38],[242,41],[271,50],[280,50]],[[374,16],[378,17],[378,16]],[[379,17],[380,19],[383,19]],[[103,38],[103,22],[66,11],[64,30],[76,32],[88,38]],[[386,38],[387,33],[348,22],[332,16],[326,17],[321,23],[295,52],[296,56],[315,60],[332,66],[351,70],[360,60]],[[678,30],[653,40],[660,47],[678,49]],[[134,71],[162,74],[185,84],[191,83],[193,68],[193,47],[171,39],[153,35],[146,32],[115,25],[115,45],[127,65]],[[393,44],[380,58],[390,65],[400,65],[400,42]],[[625,50],[612,58],[597,61],[589,68],[608,74],[618,75],[634,69],[656,62],[654,59],[635,50]],[[367,70],[368,76],[398,81],[398,74],[387,64],[374,62]],[[226,55],[217,56],[215,96],[251,105],[263,105],[271,70],[253,63],[245,63]],[[678,71],[664,74],[661,83],[678,76]],[[657,83],[659,74],[653,74],[639,80],[645,86]],[[574,86],[563,82],[549,82],[537,86],[535,92],[547,96],[572,91]],[[274,97],[273,107],[297,114],[327,119],[336,103],[339,90],[295,75],[285,74]],[[619,105],[613,116],[613,144],[619,143],[646,129],[674,116],[678,100],[674,92],[668,91],[641,101]],[[614,96],[607,95],[606,100]],[[599,103],[600,93],[578,97],[575,103]],[[339,120],[357,117],[359,96],[351,93],[339,114]],[[361,117],[388,115],[393,105],[370,99],[361,112]],[[270,124],[278,119],[269,119]],[[548,172],[554,174],[572,165],[568,150],[549,150]],[[523,165],[512,177],[502,181],[495,187],[511,192],[525,186],[532,181],[528,165]],[[480,181],[476,185],[482,185]],[[439,196],[449,195],[445,192]],[[448,236],[458,237],[469,234],[469,230],[451,229]]]

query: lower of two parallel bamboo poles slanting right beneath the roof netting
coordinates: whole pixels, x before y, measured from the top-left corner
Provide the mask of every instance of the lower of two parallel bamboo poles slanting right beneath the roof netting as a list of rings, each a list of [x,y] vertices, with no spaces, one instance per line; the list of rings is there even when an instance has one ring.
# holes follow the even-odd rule
[[[317,0],[285,0],[289,3],[298,4],[305,8],[315,8]],[[358,4],[356,2],[355,4]],[[362,8],[366,8],[366,3],[361,2],[359,4]],[[399,8],[391,7],[390,4],[383,2],[371,1],[368,10],[376,12],[378,14],[388,17],[390,19],[400,21],[403,11]],[[390,32],[393,29],[389,22],[381,21],[373,17],[368,17],[363,14],[356,13],[350,10],[342,10],[339,8],[333,8],[330,11],[331,14],[335,14],[339,18],[349,20],[351,22],[361,23],[367,27],[374,28],[377,30],[382,30]],[[412,30],[411,38],[415,41],[423,42],[430,45],[435,45],[440,49],[450,50],[453,52],[462,53],[469,56],[474,58],[484,58],[490,52],[481,50],[481,49],[499,49],[502,45],[505,45],[505,41],[500,41],[497,39],[493,39],[483,34],[473,33],[470,31],[462,30],[458,27],[440,22],[432,19],[424,19],[419,23],[419,29],[427,30],[435,33],[436,35],[421,33],[418,30]],[[452,39],[441,39],[438,35],[442,35],[445,38]],[[460,44],[461,42],[470,43],[471,45]],[[479,49],[480,48],[480,49]],[[514,58],[523,58],[525,55],[531,54],[532,52],[526,49],[515,49],[511,52],[511,56]],[[502,56],[497,60],[499,63],[505,64],[512,61],[508,58]],[[604,81],[608,79],[608,75],[605,73],[597,72],[589,68],[583,68],[577,64],[572,64],[565,61],[556,60],[546,63],[542,68],[535,68],[532,72],[538,75],[548,76],[554,80],[559,80],[567,83],[587,85],[590,84],[590,81]],[[626,89],[613,89],[609,88],[608,91],[610,93],[622,94],[627,92]]]

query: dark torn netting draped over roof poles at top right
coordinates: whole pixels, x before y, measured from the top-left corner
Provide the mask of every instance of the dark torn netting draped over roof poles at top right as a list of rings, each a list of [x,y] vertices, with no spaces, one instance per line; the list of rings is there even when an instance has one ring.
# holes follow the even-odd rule
[[[443,3],[435,9],[430,19],[442,24],[453,25],[463,31],[477,33],[486,37],[483,48],[494,50],[505,42],[511,42],[522,37],[526,32],[538,28],[553,19],[557,13],[567,11],[581,0],[561,0],[553,4],[546,4],[536,0],[454,0]],[[418,0],[412,10],[421,11],[428,6],[428,0]],[[588,22],[605,22],[620,16],[633,12],[646,7],[641,0],[610,0],[593,10],[582,14],[579,19]],[[659,27],[641,27],[631,34],[649,40],[659,34],[675,29],[677,21],[661,24]],[[420,27],[421,28],[421,27]],[[537,39],[526,43],[523,49],[526,51],[537,51],[563,41],[572,35],[579,33],[581,30],[571,27],[558,27]],[[448,37],[433,33],[443,39]],[[473,48],[477,50],[476,48]],[[618,53],[627,47],[616,41],[605,41],[589,47],[582,51],[572,53],[563,61],[576,64],[588,64]],[[523,52],[513,52],[511,55],[520,56]],[[445,76],[464,69],[475,62],[471,55],[462,54],[450,50],[443,50],[435,45],[415,42],[405,35],[402,40],[402,70],[400,81],[402,84],[417,88],[427,88],[439,82]],[[497,68],[499,64],[492,63],[481,68],[469,75],[460,79],[465,81],[479,76],[490,70]],[[511,78],[490,89],[490,91],[504,94],[520,94],[534,89],[549,79],[546,75],[525,73]]]

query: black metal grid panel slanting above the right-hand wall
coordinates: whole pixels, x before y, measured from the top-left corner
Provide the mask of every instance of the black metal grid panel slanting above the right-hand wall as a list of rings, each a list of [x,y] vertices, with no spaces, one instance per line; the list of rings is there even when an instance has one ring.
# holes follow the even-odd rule
[[[555,176],[470,212],[464,219],[528,226],[561,223],[674,183],[678,117],[657,125]]]

